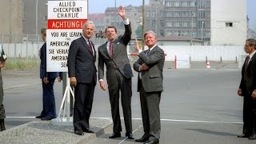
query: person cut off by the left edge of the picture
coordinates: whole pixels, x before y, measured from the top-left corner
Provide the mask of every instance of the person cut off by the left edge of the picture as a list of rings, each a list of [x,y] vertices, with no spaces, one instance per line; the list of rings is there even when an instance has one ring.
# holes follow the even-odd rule
[[[5,126],[5,118],[6,118],[6,113],[5,113],[5,107],[2,104],[3,101],[3,87],[2,87],[2,73],[1,69],[3,66],[6,65],[6,54],[4,50],[2,49],[2,46],[0,47],[0,130],[6,130]]]

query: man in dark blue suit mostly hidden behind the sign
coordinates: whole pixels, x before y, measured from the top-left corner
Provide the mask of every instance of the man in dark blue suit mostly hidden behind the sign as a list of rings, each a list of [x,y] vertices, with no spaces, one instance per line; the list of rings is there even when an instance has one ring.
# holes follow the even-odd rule
[[[46,28],[41,30],[42,40],[45,42],[40,51],[40,78],[42,79],[42,112],[36,118],[41,120],[51,120],[56,118],[56,107],[54,98],[54,82],[58,78],[58,82],[62,81],[58,72],[46,71]]]

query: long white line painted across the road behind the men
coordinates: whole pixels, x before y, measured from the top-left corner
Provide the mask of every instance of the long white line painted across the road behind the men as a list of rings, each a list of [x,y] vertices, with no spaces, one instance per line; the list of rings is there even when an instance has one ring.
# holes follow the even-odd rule
[[[35,116],[31,116],[31,117],[6,117],[6,118],[35,118]],[[107,118],[107,117],[106,118],[104,118],[104,117],[91,117],[91,118],[112,119],[112,118]],[[142,118],[132,118],[132,119],[133,120],[142,120]],[[227,123],[227,124],[242,124],[243,123],[243,122],[225,122],[225,121],[198,121],[198,120],[187,120],[187,119],[161,119],[161,121],[164,121],[164,122]]]

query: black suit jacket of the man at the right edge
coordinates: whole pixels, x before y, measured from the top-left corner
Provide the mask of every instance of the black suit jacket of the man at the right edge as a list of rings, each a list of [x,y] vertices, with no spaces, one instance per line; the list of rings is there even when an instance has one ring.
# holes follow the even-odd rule
[[[246,66],[246,61],[242,66],[242,79],[240,82],[239,89],[242,91],[248,92],[248,94],[252,94],[254,90],[256,90],[256,54],[250,59],[250,62]],[[242,95],[244,95],[242,93]]]

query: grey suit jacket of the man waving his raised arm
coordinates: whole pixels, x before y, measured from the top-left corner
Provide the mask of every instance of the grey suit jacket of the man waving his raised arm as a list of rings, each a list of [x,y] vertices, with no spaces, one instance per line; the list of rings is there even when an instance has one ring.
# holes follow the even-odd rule
[[[118,66],[118,70],[124,77],[132,78],[134,76],[126,50],[126,46],[130,42],[131,33],[130,24],[125,25],[125,33],[113,42],[113,59],[110,58],[106,49],[107,42],[98,47],[98,79],[103,79],[104,77],[104,63],[106,64],[107,80],[110,77],[110,70],[113,70],[115,66]]]

